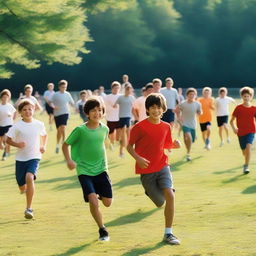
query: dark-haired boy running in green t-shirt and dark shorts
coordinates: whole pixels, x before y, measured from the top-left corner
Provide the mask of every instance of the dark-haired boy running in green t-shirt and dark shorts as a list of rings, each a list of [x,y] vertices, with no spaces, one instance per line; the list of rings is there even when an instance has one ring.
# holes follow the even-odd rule
[[[112,203],[112,186],[108,177],[105,140],[108,127],[100,122],[105,107],[98,97],[88,99],[84,105],[88,121],[76,127],[62,146],[63,154],[70,170],[76,168],[85,202],[89,202],[90,212],[99,226],[99,240],[109,241],[99,209],[99,200],[104,206]],[[71,146],[71,157],[69,153]]]

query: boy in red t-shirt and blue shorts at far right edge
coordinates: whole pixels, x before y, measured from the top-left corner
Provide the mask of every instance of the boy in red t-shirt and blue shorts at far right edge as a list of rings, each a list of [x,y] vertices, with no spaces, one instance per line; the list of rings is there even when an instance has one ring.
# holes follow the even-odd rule
[[[244,155],[244,174],[248,174],[250,172],[249,162],[251,158],[251,147],[254,140],[254,134],[256,132],[256,107],[251,105],[253,94],[254,90],[250,87],[243,87],[240,90],[243,103],[235,108],[230,120],[230,125],[234,133],[238,135],[240,148]],[[237,127],[234,125],[235,119]]]

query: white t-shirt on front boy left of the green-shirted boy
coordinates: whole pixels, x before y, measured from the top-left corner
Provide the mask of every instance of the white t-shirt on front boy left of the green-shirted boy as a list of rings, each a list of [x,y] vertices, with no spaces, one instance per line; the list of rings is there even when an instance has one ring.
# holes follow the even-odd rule
[[[33,119],[31,123],[22,120],[16,122],[8,131],[7,137],[14,142],[25,142],[24,148],[17,148],[16,160],[28,161],[41,159],[40,136],[46,135],[44,123]]]

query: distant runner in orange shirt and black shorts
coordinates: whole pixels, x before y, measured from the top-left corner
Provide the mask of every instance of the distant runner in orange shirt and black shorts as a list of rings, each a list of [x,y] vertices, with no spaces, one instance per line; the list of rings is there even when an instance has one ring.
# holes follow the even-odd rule
[[[212,89],[210,87],[204,87],[202,91],[202,97],[198,98],[198,101],[202,105],[203,113],[199,116],[200,128],[207,150],[211,149],[210,134],[211,134],[211,121],[212,111],[214,110],[214,99],[212,98]]]

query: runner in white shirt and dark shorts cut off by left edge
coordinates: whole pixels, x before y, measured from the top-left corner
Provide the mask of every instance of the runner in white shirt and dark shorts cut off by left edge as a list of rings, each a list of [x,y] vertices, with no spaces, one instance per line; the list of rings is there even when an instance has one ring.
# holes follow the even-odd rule
[[[8,89],[1,91],[0,100],[0,149],[4,150],[2,161],[5,161],[6,157],[10,154],[10,145],[5,143],[6,133],[13,125],[16,109],[9,103],[11,100],[11,92]]]

